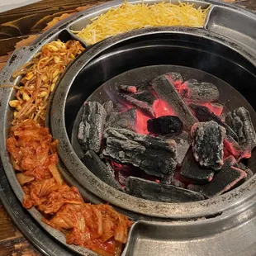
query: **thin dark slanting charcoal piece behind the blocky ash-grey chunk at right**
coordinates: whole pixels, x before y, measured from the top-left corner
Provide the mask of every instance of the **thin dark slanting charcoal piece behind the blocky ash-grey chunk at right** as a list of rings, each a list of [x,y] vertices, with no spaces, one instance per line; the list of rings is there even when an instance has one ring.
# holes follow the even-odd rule
[[[225,122],[223,122],[219,116],[216,116],[208,107],[196,104],[189,104],[189,107],[191,107],[192,111],[195,112],[199,121],[216,121],[219,126],[223,126],[225,128],[227,135],[230,135],[234,140],[238,141],[235,131],[225,124]]]

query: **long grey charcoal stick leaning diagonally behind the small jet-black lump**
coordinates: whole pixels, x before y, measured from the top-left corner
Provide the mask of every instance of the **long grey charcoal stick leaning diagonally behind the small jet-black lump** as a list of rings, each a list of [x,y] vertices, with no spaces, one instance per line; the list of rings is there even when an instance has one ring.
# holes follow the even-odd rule
[[[175,111],[187,131],[191,130],[193,124],[197,122],[197,118],[193,116],[192,111],[175,89],[175,85],[170,83],[164,75],[154,78],[151,85],[158,97],[167,102],[168,106]]]

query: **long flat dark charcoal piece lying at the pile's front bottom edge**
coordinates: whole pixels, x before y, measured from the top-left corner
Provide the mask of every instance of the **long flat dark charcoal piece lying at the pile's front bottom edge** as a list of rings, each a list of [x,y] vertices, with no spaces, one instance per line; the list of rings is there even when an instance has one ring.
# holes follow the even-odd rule
[[[181,187],[154,183],[135,177],[127,178],[126,192],[132,196],[152,201],[186,202],[204,199],[201,193],[198,192],[191,192]]]

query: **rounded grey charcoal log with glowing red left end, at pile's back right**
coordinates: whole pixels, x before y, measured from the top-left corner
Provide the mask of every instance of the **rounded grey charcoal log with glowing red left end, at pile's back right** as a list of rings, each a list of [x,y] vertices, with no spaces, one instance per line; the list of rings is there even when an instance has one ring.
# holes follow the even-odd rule
[[[197,80],[187,80],[180,87],[179,93],[191,102],[215,102],[220,97],[220,92],[213,83],[198,83]]]

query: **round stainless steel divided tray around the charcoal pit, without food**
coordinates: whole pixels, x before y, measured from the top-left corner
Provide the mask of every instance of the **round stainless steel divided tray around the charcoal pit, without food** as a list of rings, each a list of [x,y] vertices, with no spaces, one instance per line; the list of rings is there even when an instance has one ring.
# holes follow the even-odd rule
[[[2,70],[0,83],[18,83],[18,79],[12,81],[12,72],[21,66],[21,64],[24,64],[31,59],[32,56],[40,50],[41,45],[44,45],[50,40],[56,40],[57,38],[60,40],[80,40],[77,36],[73,35],[72,30],[80,29],[82,26],[88,24],[92,17],[96,17],[99,14],[106,12],[110,7],[120,5],[121,2],[122,1],[108,2],[107,4],[93,7],[83,12],[78,12],[73,15],[73,17],[69,17],[67,20],[61,22],[50,31],[40,36],[31,47],[24,47],[21,50],[17,50]],[[155,1],[145,2],[154,3]],[[58,110],[62,112],[62,114],[57,116],[58,118],[56,119],[51,118],[49,122],[53,135],[58,139],[61,139],[61,159],[64,159],[67,152],[73,152],[72,147],[70,148],[69,138],[66,136],[65,131],[63,130],[63,132],[59,133],[57,130],[59,126],[64,128],[64,102],[59,101],[59,98],[67,96],[62,92],[63,88],[67,88],[67,86],[69,87],[71,85],[74,77],[86,64],[90,64],[93,59],[107,55],[107,53],[115,50],[116,46],[120,47],[121,44],[126,44],[128,40],[136,40],[139,37],[141,38],[141,36],[149,36],[149,34],[153,34],[156,38],[161,35],[196,36],[203,40],[211,40],[212,44],[227,46],[227,48],[232,50],[234,54],[241,56],[240,60],[243,64],[246,63],[247,65],[246,69],[248,69],[250,73],[254,73],[256,65],[254,50],[256,49],[256,36],[254,33],[256,18],[254,13],[220,2],[189,2],[194,2],[195,5],[202,5],[205,7],[212,4],[206,19],[206,24],[201,29],[162,27],[131,31],[126,35],[115,36],[103,40],[97,45],[90,46],[83,40],[80,40],[83,45],[88,46],[88,50],[75,59],[73,64],[69,66],[62,76],[59,87],[55,92],[53,102],[53,107],[58,107]],[[239,64],[241,63],[239,62]],[[33,244],[36,244],[44,254],[69,255],[76,253],[96,255],[88,249],[65,244],[64,235],[59,231],[50,228],[48,225],[44,225],[40,221],[41,216],[36,209],[31,209],[30,211],[21,209],[21,205],[18,203],[17,198],[19,201],[22,201],[23,192],[21,186],[17,183],[17,178],[15,177],[15,172],[9,162],[5,145],[12,116],[11,110],[8,107],[8,101],[12,97],[12,89],[0,91],[0,112],[3,116],[0,126],[0,149],[2,167],[5,171],[5,173],[3,173],[3,169],[1,170],[2,180],[0,197],[4,206],[7,208],[12,220],[17,223],[24,235],[26,235]],[[77,158],[73,153],[72,156],[74,159]],[[225,194],[216,199],[216,201],[212,201],[212,203],[210,201],[201,201],[195,205],[183,204],[183,206],[164,204],[161,208],[157,208],[159,206],[150,201],[145,204],[140,204],[141,201],[136,201],[133,198],[132,203],[135,204],[136,211],[137,209],[140,209],[140,211],[134,212],[132,207],[134,206],[133,204],[130,206],[124,205],[124,202],[121,200],[123,195],[120,197],[120,195],[111,187],[99,183],[100,181],[97,178],[89,176],[88,184],[79,184],[78,177],[73,175],[73,173],[69,173],[66,169],[67,167],[69,169],[78,168],[78,166],[74,166],[73,164],[74,162],[72,161],[69,163],[62,163],[62,174],[69,183],[78,187],[79,191],[82,192],[83,197],[87,197],[89,201],[94,203],[111,201],[111,204],[116,206],[118,210],[126,212],[126,214],[137,220],[130,230],[129,241],[126,244],[126,248],[122,255],[159,255],[159,251],[161,251],[161,255],[206,255],[210,254],[207,248],[211,248],[211,255],[238,255],[243,254],[244,252],[246,252],[246,255],[256,254],[256,239],[254,239],[256,231],[252,228],[256,221],[256,211],[254,209],[256,178],[250,179],[249,182],[244,183],[243,186]],[[92,184],[95,183],[98,183],[100,186],[92,186]],[[17,198],[14,196],[12,190]],[[102,193],[101,197],[98,196],[99,192]],[[14,201],[12,201],[11,198],[14,198]],[[216,204],[218,207],[216,207]],[[15,207],[14,210],[11,208],[13,206]],[[30,212],[30,214],[27,212]],[[20,214],[21,216],[19,216]],[[25,218],[23,217],[23,214],[26,216]],[[43,229],[33,221],[31,216],[33,216]],[[146,216],[149,216],[149,218]],[[24,220],[22,220],[23,218]],[[28,225],[28,228],[26,228],[26,225]],[[45,230],[48,233],[45,232]],[[204,231],[201,232],[201,230]],[[47,234],[50,234],[50,236]],[[35,239],[36,237],[38,237],[38,239]],[[225,237],[228,237],[229,239],[225,241]],[[50,243],[51,246],[44,245],[47,243]]]

